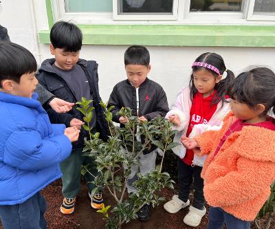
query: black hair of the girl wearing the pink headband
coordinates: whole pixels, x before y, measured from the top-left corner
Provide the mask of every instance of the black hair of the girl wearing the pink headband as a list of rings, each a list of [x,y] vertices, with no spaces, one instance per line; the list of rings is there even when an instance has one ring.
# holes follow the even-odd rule
[[[221,107],[223,107],[223,102],[228,102],[228,100],[226,100],[225,96],[228,94],[229,89],[232,87],[232,83],[235,78],[234,73],[232,71],[226,69],[223,58],[219,54],[216,54],[214,52],[206,52],[206,53],[201,54],[199,57],[197,57],[195,62],[208,63],[208,65],[212,65],[212,66],[216,67],[217,69],[219,69],[219,72],[221,75],[223,75],[223,72],[227,73],[227,76],[224,79],[222,79],[221,81],[219,81],[219,83],[217,83],[214,86],[214,89],[217,90],[217,93],[212,98],[212,102],[211,102],[211,104],[214,105],[214,104],[217,104],[220,101],[222,101]],[[214,72],[212,69],[208,69],[208,68],[202,67],[202,66],[193,66],[192,74],[191,74],[191,78],[190,78],[190,98],[191,98],[191,100],[197,93],[197,88],[195,87],[195,84],[194,84],[193,72],[196,72],[197,70],[199,70],[201,68],[210,72],[214,77],[219,76],[219,74],[217,74],[217,72]]]

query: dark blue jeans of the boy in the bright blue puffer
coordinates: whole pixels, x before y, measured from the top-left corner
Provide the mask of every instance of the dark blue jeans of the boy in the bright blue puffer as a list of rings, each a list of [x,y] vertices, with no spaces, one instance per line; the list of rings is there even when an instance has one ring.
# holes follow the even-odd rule
[[[40,192],[21,204],[1,205],[0,219],[5,229],[45,229],[46,201]]]

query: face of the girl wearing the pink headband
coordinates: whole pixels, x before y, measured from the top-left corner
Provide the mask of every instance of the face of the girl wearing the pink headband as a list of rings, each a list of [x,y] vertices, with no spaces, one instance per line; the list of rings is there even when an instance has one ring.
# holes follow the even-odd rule
[[[203,68],[193,72],[193,78],[195,87],[204,97],[210,96],[216,83],[219,83],[221,80],[221,76],[215,77]]]

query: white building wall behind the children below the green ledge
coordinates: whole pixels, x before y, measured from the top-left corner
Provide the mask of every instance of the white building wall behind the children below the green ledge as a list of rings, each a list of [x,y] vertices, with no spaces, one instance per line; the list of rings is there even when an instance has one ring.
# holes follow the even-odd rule
[[[42,0],[3,0],[0,24],[8,28],[10,39],[28,48],[40,64],[51,58],[49,45],[37,41],[37,31],[48,30],[47,10]],[[248,37],[248,39],[250,39]],[[111,89],[126,78],[124,45],[83,45],[80,57],[96,60],[99,64],[99,86],[102,100],[107,101]],[[177,91],[188,85],[190,65],[203,52],[217,52],[225,65],[239,74],[250,65],[275,67],[275,47],[162,47],[148,46],[152,70],[149,78],[157,81],[171,104]]]

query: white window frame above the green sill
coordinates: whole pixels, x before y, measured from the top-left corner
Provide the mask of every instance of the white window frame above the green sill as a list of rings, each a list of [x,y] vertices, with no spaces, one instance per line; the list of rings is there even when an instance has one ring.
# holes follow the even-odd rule
[[[174,0],[171,15],[118,14],[118,0],[113,0],[112,12],[65,12],[64,0],[50,0],[54,21],[73,20],[78,24],[272,24],[275,15],[254,14],[255,0],[243,0],[241,12],[190,12],[190,1]],[[261,21],[261,22],[260,22]]]

